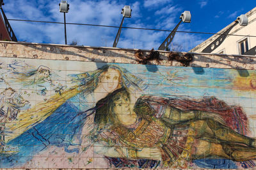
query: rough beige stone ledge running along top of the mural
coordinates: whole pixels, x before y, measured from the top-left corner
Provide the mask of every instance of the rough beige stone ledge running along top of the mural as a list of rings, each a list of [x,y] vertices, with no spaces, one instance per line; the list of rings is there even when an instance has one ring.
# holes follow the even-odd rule
[[[139,64],[134,55],[138,49],[102,46],[56,45],[44,43],[0,41],[0,57],[47,60],[76,60],[87,62],[109,62]],[[143,50],[148,55],[150,50]],[[160,62],[150,60],[147,64],[161,66],[183,66],[177,60],[168,60],[170,52],[159,51]],[[177,52],[184,55],[186,52]],[[220,53],[192,53],[191,67],[214,67],[232,69],[256,69],[256,57]]]

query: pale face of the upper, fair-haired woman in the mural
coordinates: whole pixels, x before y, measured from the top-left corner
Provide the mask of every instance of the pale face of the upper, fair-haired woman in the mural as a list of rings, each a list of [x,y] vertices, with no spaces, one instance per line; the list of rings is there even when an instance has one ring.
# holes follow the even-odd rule
[[[120,83],[120,72],[116,69],[109,68],[103,74],[102,80],[102,87],[106,92],[111,93],[114,90],[118,89]]]

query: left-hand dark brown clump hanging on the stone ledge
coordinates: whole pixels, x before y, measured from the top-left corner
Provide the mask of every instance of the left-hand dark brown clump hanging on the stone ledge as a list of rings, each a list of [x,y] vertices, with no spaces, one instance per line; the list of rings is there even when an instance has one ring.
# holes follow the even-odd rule
[[[160,64],[159,60],[163,60],[159,58],[159,52],[155,51],[154,48],[150,50],[148,55],[144,55],[142,50],[136,50],[135,57],[139,64],[147,64],[147,61],[150,60],[156,60],[157,64]]]

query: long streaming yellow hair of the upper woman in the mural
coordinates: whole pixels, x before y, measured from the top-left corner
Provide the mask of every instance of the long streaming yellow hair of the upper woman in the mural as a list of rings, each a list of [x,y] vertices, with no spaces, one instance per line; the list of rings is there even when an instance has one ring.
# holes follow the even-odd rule
[[[120,72],[121,88],[129,92],[134,90],[145,90],[147,85],[143,80],[126,69],[116,65],[106,65],[95,71],[89,71],[81,74],[70,74],[74,85],[70,89],[61,94],[54,94],[50,99],[44,103],[36,104],[35,107],[20,114],[19,118],[26,122],[24,124],[10,125],[8,129],[12,132],[8,136],[8,140],[17,137],[17,134],[28,131],[31,127],[43,122],[45,118],[49,117],[68,99],[83,93],[83,96],[90,94],[99,85],[102,73],[108,71],[109,68],[116,69]],[[33,117],[33,118],[31,118]],[[85,122],[85,120],[84,120]],[[83,124],[83,123],[81,123]]]

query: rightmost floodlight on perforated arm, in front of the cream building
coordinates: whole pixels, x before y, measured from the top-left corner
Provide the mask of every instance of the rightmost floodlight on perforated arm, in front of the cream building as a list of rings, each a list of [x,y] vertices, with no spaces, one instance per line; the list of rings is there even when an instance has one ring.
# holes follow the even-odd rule
[[[228,33],[232,30],[232,28],[234,28],[237,24],[241,25],[241,26],[246,26],[248,25],[248,18],[246,17],[246,15],[240,15],[239,17],[237,17],[237,19],[235,20],[234,24],[232,24],[225,32],[223,32],[220,36],[218,36],[218,38],[216,38],[214,41],[211,42],[211,44],[209,44],[208,46],[206,46],[204,48],[204,50],[202,50],[202,53],[211,53],[213,52],[216,48],[218,48],[218,46],[221,45],[221,43],[223,43],[223,41],[227,38]]]

